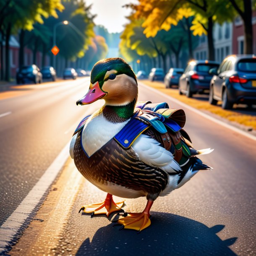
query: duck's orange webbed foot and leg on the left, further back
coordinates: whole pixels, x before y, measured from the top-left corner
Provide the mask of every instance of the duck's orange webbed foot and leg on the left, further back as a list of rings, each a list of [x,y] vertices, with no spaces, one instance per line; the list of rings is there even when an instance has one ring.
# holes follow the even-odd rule
[[[124,201],[115,203],[112,195],[107,193],[107,197],[104,202],[98,204],[88,204],[81,207],[80,211],[83,210],[85,213],[91,213],[91,218],[97,214],[106,214],[109,217],[113,212],[124,212],[121,207],[123,206]]]

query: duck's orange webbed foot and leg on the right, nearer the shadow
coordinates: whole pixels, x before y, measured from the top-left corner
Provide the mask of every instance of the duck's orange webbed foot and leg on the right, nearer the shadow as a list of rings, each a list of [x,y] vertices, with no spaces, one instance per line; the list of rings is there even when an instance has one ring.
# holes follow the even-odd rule
[[[117,221],[118,224],[123,225],[120,229],[128,228],[138,230],[144,230],[146,227],[149,227],[151,221],[149,219],[149,211],[153,204],[153,200],[149,199],[146,207],[143,212],[141,213],[128,213],[127,217],[121,218]]]

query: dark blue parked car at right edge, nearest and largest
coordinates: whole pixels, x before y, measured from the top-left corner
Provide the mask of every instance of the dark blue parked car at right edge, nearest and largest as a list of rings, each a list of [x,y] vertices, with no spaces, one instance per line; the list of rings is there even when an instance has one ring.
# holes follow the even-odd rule
[[[231,109],[234,103],[256,104],[256,56],[230,55],[214,74],[210,84],[209,102],[222,101],[223,109]]]

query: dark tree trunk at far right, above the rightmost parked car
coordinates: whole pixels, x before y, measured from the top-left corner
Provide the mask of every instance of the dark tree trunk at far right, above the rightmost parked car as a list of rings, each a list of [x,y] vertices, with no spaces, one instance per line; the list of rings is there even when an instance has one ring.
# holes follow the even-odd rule
[[[253,25],[252,25],[252,10],[251,10],[251,0],[244,0],[244,13],[243,18],[244,24],[244,35],[245,35],[245,54],[253,53]]]

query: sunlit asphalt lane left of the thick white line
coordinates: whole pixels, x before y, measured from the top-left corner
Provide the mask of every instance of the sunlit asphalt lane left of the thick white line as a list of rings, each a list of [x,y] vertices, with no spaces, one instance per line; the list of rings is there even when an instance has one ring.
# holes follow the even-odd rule
[[[0,116],[11,112],[0,117],[0,225],[93,111],[76,106],[88,86],[89,78],[20,86],[26,94],[0,100]]]

